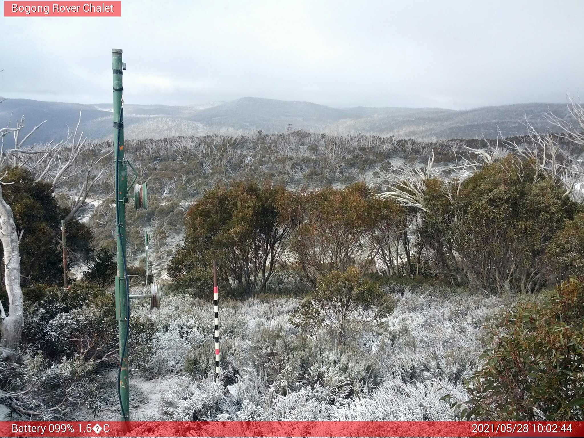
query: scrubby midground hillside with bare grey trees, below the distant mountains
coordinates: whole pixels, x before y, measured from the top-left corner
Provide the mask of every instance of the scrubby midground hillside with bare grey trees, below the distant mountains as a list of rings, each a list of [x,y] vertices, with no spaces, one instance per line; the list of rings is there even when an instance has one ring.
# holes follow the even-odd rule
[[[395,178],[412,168],[426,168],[433,157],[432,176],[450,180],[474,172],[470,163],[476,150],[499,144],[500,154],[509,152],[513,142],[529,143],[529,138],[510,138],[503,142],[484,140],[449,140],[419,142],[371,135],[326,135],[305,131],[287,134],[254,134],[231,137],[207,135],[164,140],[126,142],[131,160],[139,169],[138,180],[147,182],[152,197],[148,211],[128,210],[132,215],[130,249],[141,253],[140,232],[149,227],[155,260],[164,262],[183,235],[183,217],[189,206],[217,185],[237,180],[270,181],[290,190],[303,187],[340,187],[356,181],[366,182],[378,193],[384,192]],[[580,154],[578,145],[558,137],[566,153]],[[106,150],[107,143],[99,148]],[[128,155],[129,156],[129,155]],[[106,169],[109,171],[109,169]],[[74,190],[74,179],[61,190]],[[85,220],[95,230],[103,245],[113,248],[113,187],[109,173],[94,186],[95,201],[85,210]],[[135,217],[134,217],[135,215]],[[140,231],[141,230],[141,231]],[[162,273],[164,262],[158,263]]]

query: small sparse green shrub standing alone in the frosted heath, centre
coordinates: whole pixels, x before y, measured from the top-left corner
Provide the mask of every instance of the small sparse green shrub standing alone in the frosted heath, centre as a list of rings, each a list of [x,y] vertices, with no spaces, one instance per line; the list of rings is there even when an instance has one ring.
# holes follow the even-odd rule
[[[359,332],[364,325],[386,317],[394,307],[395,301],[377,283],[361,277],[359,269],[351,266],[345,272],[334,270],[322,277],[291,322],[313,336],[323,325],[331,326],[342,345],[351,331]]]

